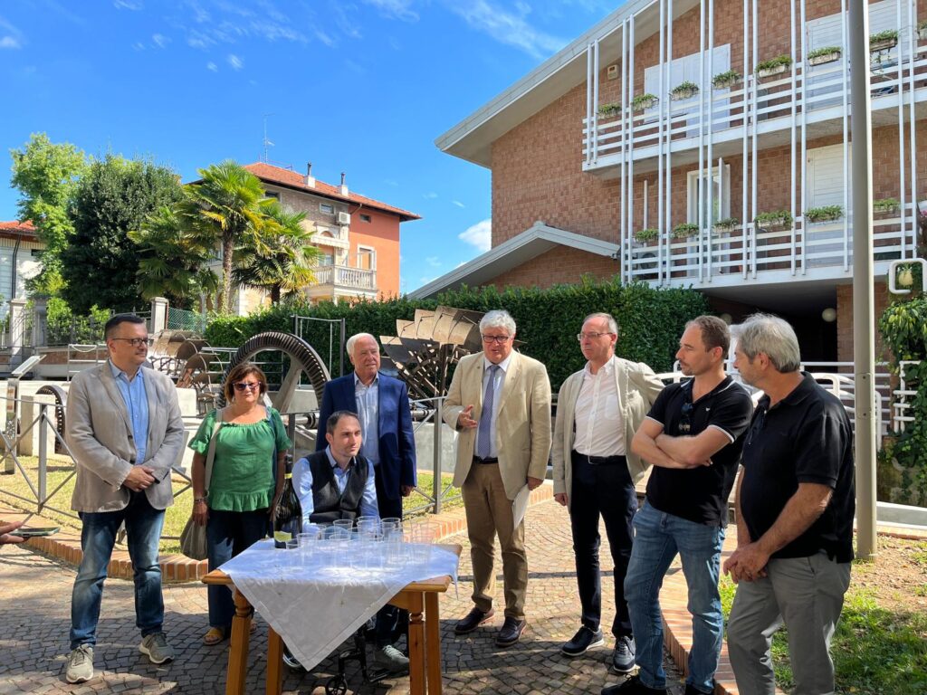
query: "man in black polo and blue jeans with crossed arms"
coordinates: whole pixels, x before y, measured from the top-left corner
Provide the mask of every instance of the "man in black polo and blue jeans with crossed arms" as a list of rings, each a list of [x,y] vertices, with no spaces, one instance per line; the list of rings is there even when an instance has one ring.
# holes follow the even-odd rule
[[[637,641],[636,676],[603,695],[666,695],[660,587],[679,553],[689,587],[692,651],[686,695],[714,690],[724,621],[717,592],[727,500],[753,403],[724,373],[728,326],[714,316],[686,324],[676,357],[690,381],[668,385],[631,442],[654,464],[647,499],[634,517],[634,547],[625,579]]]

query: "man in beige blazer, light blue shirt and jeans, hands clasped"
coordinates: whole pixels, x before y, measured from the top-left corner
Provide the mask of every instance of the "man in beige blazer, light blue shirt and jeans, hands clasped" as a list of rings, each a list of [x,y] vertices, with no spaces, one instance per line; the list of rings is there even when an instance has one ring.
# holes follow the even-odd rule
[[[68,394],[66,437],[77,461],[71,509],[83,522],[83,559],[71,596],[67,680],[94,676],[96,623],[120,524],[132,557],[139,650],[152,663],[173,659],[162,630],[158,543],[173,503],[171,465],[184,448],[184,421],[171,379],[142,369],[145,320],[117,314],[106,325],[109,360],[77,374]]]

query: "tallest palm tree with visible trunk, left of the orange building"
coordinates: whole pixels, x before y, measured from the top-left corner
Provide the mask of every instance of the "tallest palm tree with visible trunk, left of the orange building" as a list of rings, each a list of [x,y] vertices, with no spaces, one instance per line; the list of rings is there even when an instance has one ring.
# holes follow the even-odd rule
[[[273,200],[264,197],[260,179],[231,159],[200,169],[202,179],[186,186],[181,204],[184,223],[197,235],[211,235],[222,254],[222,295],[219,311],[232,310],[232,269],[235,248],[250,246],[268,252],[264,239],[266,210]]]

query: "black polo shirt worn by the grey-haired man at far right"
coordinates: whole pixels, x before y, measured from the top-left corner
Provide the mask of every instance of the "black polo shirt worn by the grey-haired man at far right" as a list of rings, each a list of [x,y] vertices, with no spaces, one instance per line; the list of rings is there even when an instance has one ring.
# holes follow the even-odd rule
[[[829,486],[827,509],[804,534],[772,554],[804,558],[824,550],[837,562],[853,560],[853,435],[844,405],[805,374],[773,408],[756,407],[743,446],[741,512],[753,540],[775,523],[799,483]]]

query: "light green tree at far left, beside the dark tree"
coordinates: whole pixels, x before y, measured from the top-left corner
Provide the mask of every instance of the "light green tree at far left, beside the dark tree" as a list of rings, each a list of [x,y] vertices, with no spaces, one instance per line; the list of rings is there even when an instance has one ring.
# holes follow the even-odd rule
[[[55,296],[64,281],[61,257],[73,229],[68,215],[70,196],[86,168],[81,150],[70,143],[55,144],[45,133],[32,133],[21,149],[10,150],[13,176],[19,189],[20,220],[30,220],[44,244],[42,272],[29,282],[33,292]]]

